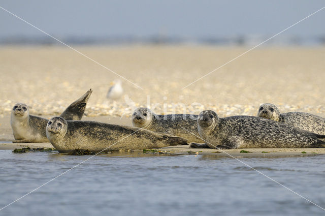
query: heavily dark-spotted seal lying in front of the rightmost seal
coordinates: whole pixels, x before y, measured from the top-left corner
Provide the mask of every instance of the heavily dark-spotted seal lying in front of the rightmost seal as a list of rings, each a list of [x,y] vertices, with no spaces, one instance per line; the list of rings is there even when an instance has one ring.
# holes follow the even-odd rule
[[[313,134],[273,120],[255,116],[219,118],[212,110],[202,111],[198,129],[203,145],[192,147],[232,148],[308,148],[323,147],[325,135]]]

